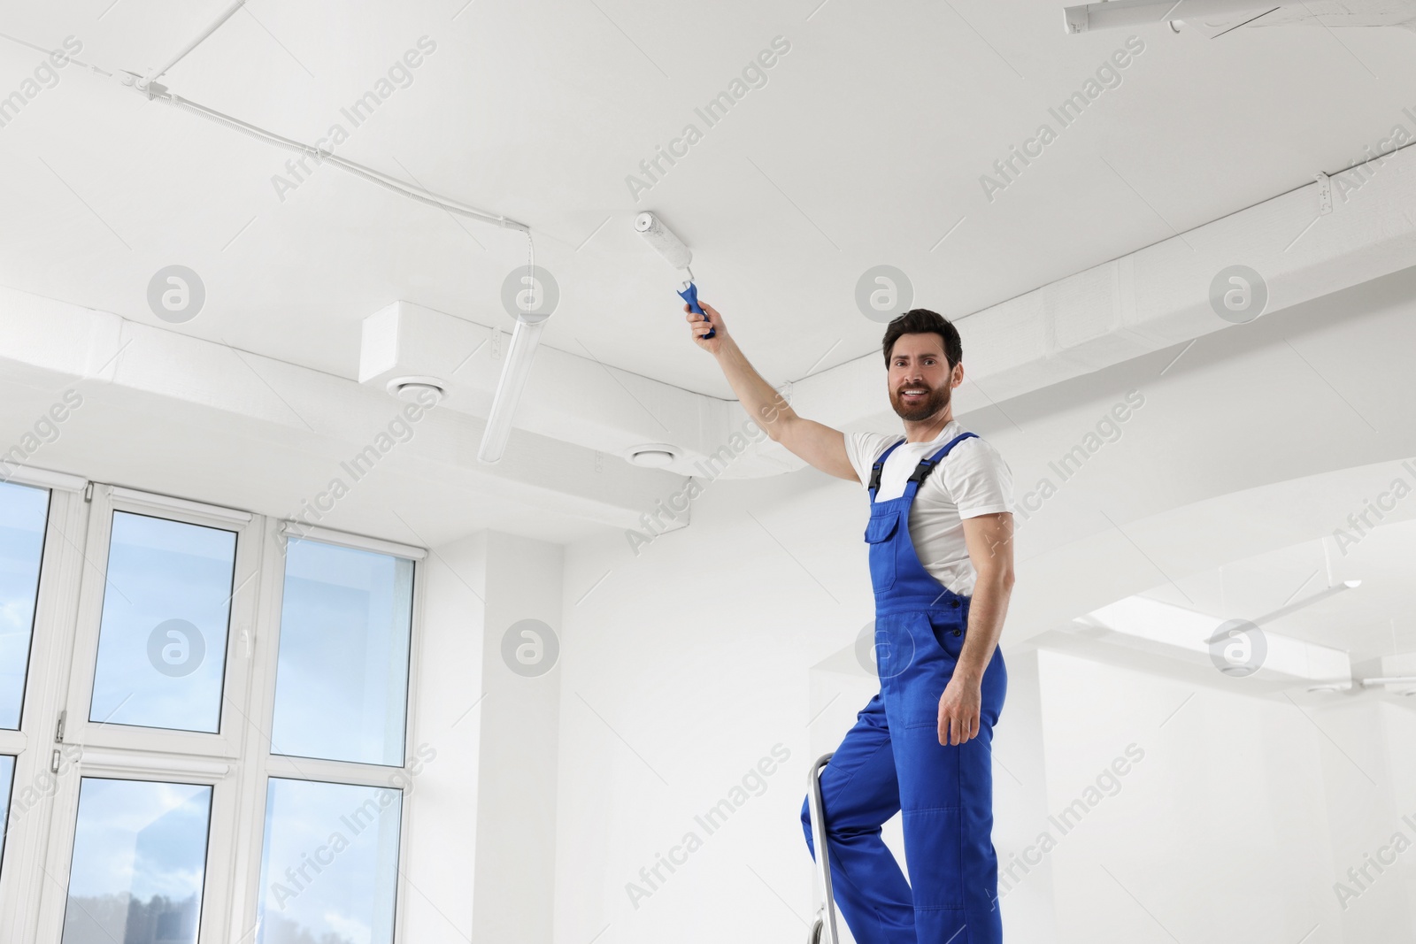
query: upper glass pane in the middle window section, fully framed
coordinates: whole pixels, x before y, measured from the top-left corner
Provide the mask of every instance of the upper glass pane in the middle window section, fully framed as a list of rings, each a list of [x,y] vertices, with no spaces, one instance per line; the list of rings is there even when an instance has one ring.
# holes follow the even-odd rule
[[[113,512],[89,720],[215,733],[236,535]]]

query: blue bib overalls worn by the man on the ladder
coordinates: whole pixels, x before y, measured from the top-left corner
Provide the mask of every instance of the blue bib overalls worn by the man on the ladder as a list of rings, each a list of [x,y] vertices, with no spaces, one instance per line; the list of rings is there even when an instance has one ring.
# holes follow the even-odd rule
[[[909,536],[909,510],[920,484],[970,436],[963,433],[922,460],[899,498],[875,501],[885,459],[899,443],[871,470],[865,541],[881,691],[821,771],[831,882],[858,944],[1003,941],[991,747],[1008,671],[994,650],[983,675],[978,735],[953,747],[940,744],[939,698],[963,648],[970,597],[930,576]],[[881,825],[896,811],[903,811],[908,885],[881,839]],[[801,825],[811,848],[807,804]]]

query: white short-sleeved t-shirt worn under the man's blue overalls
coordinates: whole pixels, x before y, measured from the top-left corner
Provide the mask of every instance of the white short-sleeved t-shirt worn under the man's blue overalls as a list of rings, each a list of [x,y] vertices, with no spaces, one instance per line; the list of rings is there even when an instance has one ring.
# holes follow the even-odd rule
[[[877,501],[899,498],[905,483],[919,464],[959,433],[967,432],[950,420],[939,437],[927,443],[903,443],[889,454],[881,470]],[[855,467],[864,488],[869,488],[871,466],[899,433],[847,433],[845,454]],[[869,491],[865,493],[869,495]],[[925,570],[960,596],[971,596],[977,575],[964,543],[964,518],[1012,511],[1012,470],[998,450],[986,440],[970,436],[942,459],[920,485],[909,510],[909,535]]]

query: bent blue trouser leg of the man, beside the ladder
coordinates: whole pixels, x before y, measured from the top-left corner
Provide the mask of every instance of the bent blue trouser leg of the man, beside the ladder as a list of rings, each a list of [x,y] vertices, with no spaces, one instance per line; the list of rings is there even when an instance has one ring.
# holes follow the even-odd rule
[[[881,825],[899,811],[899,783],[885,708],[877,695],[821,771],[821,801],[831,883],[841,917],[858,944],[915,944],[915,907]],[[811,817],[801,804],[806,844]]]

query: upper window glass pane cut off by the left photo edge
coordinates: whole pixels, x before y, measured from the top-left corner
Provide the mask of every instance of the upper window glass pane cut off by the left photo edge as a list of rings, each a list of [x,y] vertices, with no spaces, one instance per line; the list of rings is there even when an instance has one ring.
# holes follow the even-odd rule
[[[50,493],[0,483],[0,727],[20,727]]]

